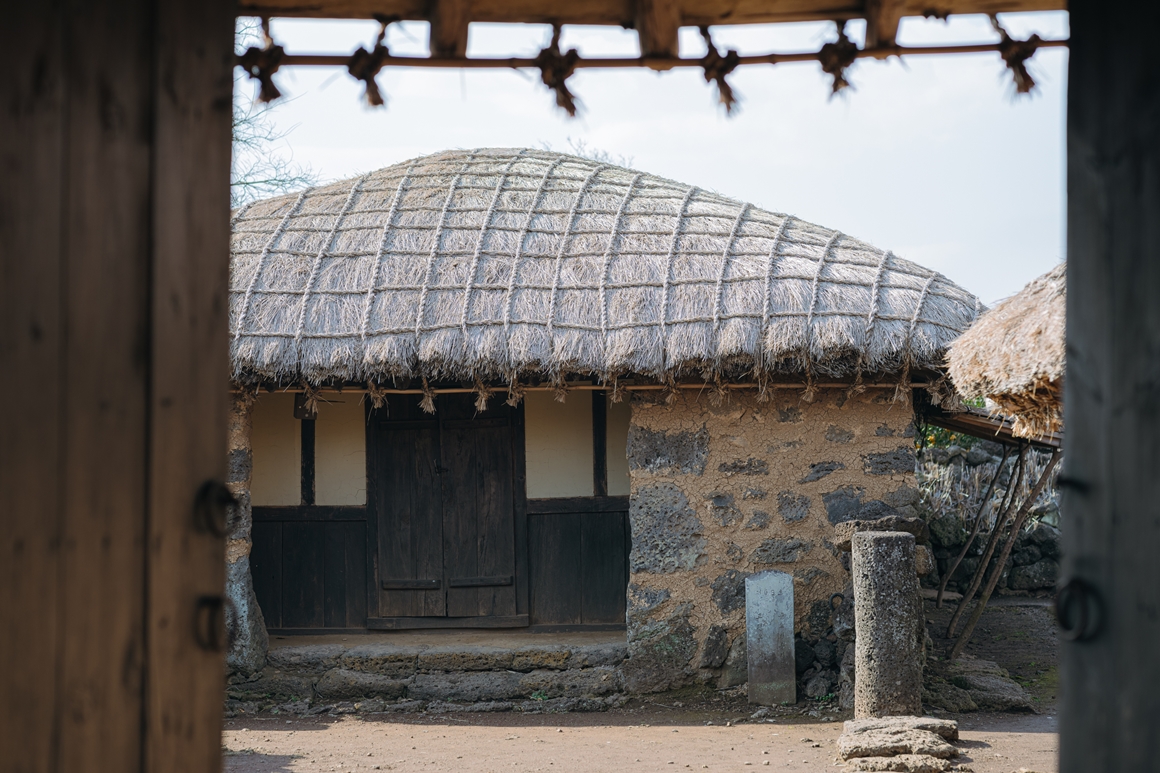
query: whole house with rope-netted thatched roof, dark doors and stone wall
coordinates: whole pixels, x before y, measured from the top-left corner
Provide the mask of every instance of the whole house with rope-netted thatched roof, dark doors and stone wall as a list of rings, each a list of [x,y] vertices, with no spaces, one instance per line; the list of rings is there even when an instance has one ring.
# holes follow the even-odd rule
[[[264,614],[239,641],[621,627],[629,692],[744,681],[752,572],[792,575],[797,633],[833,641],[834,527],[913,514],[896,389],[940,377],[979,310],[838,231],[534,150],[233,227],[234,378],[309,392],[235,393],[231,598]]]

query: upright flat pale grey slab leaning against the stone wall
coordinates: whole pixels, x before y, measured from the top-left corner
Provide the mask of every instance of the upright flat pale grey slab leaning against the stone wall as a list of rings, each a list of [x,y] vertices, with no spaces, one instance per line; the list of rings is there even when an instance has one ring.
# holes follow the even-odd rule
[[[749,702],[797,702],[793,669],[793,577],[768,571],[745,579]]]

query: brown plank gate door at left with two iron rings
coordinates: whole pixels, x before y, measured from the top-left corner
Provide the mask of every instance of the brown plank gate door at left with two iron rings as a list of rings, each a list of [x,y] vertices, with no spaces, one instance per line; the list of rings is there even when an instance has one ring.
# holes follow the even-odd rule
[[[5,770],[220,768],[232,37],[227,0],[5,8]]]

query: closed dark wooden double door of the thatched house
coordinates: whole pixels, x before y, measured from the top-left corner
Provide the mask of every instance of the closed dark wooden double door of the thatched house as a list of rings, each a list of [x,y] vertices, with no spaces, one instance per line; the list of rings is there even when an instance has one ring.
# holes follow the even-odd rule
[[[371,628],[528,624],[520,420],[472,395],[370,411]]]

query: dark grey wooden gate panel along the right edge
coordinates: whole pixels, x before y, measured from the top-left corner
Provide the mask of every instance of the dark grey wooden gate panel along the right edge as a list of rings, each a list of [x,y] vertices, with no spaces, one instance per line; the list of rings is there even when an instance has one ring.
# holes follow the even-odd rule
[[[1160,771],[1160,6],[1070,9],[1060,581],[1099,627],[1063,643],[1059,761]]]

